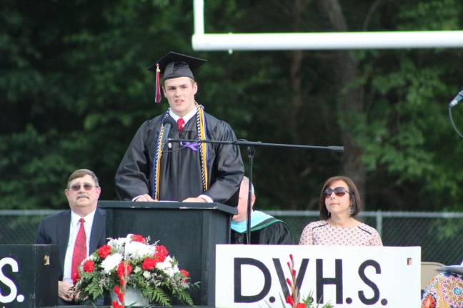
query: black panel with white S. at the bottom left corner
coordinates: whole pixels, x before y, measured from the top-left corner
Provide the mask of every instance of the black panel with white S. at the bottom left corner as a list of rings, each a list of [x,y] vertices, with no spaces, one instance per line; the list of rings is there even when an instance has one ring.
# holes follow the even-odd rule
[[[0,245],[0,307],[54,307],[58,302],[56,245]]]

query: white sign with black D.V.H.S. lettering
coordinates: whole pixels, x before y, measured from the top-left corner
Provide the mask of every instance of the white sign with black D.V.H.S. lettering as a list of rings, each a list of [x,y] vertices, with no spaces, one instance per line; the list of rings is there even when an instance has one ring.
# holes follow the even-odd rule
[[[319,307],[335,308],[421,306],[421,247],[216,245],[216,307],[290,307],[290,255],[301,300],[312,296]]]

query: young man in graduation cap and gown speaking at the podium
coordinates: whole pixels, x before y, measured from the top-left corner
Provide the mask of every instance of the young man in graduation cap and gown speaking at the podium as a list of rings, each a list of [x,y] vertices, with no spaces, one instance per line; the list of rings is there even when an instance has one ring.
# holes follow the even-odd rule
[[[184,140],[234,141],[228,123],[204,112],[195,101],[198,84],[193,70],[206,60],[169,52],[149,70],[159,74],[169,109],[146,120],[126,150],[116,171],[116,193],[121,200],[221,202],[237,205],[244,167],[236,145],[167,142]]]

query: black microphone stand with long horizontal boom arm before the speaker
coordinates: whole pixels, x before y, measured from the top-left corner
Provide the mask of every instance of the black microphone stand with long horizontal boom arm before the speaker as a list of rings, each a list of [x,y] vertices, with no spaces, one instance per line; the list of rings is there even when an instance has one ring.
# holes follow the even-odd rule
[[[248,200],[247,200],[247,224],[246,224],[246,240],[247,245],[251,244],[251,196],[252,196],[252,159],[254,157],[255,148],[299,148],[299,149],[310,149],[310,150],[328,150],[334,152],[344,152],[343,146],[338,145],[329,145],[329,146],[318,146],[318,145],[293,145],[293,144],[283,144],[283,143],[263,143],[261,141],[248,141],[245,139],[231,140],[231,141],[221,141],[221,140],[197,140],[197,139],[175,139],[169,138],[169,142],[174,143],[212,143],[212,144],[221,144],[221,145],[238,145],[246,146],[249,160],[249,190],[248,190]]]

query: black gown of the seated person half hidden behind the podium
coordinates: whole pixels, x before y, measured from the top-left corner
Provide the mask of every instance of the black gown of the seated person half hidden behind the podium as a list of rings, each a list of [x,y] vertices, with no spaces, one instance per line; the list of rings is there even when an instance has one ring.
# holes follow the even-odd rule
[[[246,231],[231,230],[231,244],[246,243]],[[294,245],[294,241],[287,225],[272,217],[251,228],[251,244]]]

